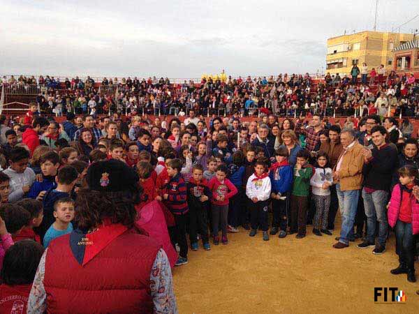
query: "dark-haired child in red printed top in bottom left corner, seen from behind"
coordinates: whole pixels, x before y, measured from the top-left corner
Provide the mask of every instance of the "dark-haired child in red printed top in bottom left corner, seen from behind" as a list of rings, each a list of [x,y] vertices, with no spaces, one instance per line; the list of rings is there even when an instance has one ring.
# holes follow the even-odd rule
[[[0,274],[1,313],[27,313],[29,292],[43,251],[41,244],[31,240],[10,246]]]

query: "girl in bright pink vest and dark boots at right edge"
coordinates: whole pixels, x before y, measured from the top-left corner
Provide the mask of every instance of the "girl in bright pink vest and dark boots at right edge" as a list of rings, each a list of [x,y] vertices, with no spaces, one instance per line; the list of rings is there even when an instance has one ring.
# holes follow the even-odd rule
[[[412,191],[419,173],[418,168],[412,165],[401,167],[398,172],[400,184],[396,184],[392,190],[388,204],[388,224],[395,230],[399,267],[390,272],[393,275],[407,274],[407,280],[414,283],[414,234],[419,233],[419,202]]]

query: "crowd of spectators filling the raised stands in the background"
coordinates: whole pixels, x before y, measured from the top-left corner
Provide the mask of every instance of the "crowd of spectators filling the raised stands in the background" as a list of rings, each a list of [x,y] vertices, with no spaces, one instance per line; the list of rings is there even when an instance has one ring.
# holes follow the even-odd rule
[[[1,82],[0,82],[1,83]],[[103,77],[95,82],[73,77],[60,82],[59,78],[34,76],[17,79],[3,77],[10,93],[38,87],[36,102],[50,114],[197,114],[210,116],[241,116],[273,113],[281,117],[300,114],[322,116],[381,116],[415,117],[419,114],[419,84],[413,73],[398,75],[391,71],[385,76],[383,67],[368,70],[365,63],[360,70],[353,66],[351,76],[326,73],[321,80],[305,75],[277,77],[203,77],[200,82],[184,80],[173,84],[168,77],[160,79],[131,77],[118,79]]]

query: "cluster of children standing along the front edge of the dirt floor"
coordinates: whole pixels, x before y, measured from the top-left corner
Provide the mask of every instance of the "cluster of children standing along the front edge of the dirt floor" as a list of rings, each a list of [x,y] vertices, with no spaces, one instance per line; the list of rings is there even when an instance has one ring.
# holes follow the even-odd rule
[[[332,184],[327,154],[318,154],[314,167],[309,151],[302,149],[292,165],[286,147],[274,151],[271,161],[263,148],[249,143],[228,149],[230,141],[224,134],[215,141],[208,135],[192,145],[182,140],[189,133],[179,133],[176,125],[172,130],[176,136],[168,141],[152,140],[143,130],[139,140],[146,163],[137,165],[143,200],[163,202],[174,216],[170,234],[179,251],[176,265],[188,261],[187,234],[193,251],[199,248],[198,239],[205,250],[210,250],[210,237],[214,245],[228,244],[228,232],[238,232],[239,226],[249,230],[250,237],[260,230],[264,241],[278,232],[280,238],[293,233],[298,239],[305,237],[311,190],[316,204],[314,234],[332,234],[327,229]],[[156,140],[160,141],[157,151],[153,150]],[[149,167],[153,160],[155,170]]]

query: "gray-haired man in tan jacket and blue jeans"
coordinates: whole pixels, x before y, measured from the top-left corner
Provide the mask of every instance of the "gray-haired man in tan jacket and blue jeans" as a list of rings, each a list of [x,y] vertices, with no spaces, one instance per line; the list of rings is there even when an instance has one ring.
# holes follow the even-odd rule
[[[341,131],[341,144],[344,151],[333,169],[336,183],[339,210],[342,218],[341,234],[334,248],[347,248],[353,236],[353,222],[362,188],[362,166],[364,165],[363,147],[355,140],[355,130],[344,128]]]

